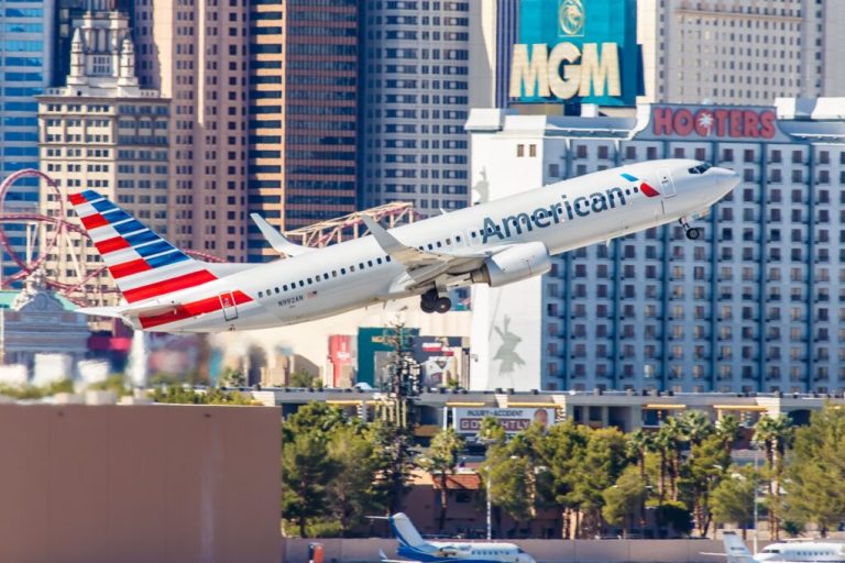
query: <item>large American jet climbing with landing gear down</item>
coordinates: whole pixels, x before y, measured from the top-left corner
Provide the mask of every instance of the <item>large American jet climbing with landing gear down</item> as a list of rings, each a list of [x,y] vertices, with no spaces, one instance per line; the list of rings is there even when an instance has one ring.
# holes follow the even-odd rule
[[[726,168],[690,159],[628,164],[323,249],[297,245],[252,219],[286,257],[265,264],[195,260],[94,190],[68,196],[123,302],[79,312],[122,318],[136,330],[263,329],[420,297],[450,310],[449,289],[500,287],[551,269],[551,256],[706,213],[737,184]]]

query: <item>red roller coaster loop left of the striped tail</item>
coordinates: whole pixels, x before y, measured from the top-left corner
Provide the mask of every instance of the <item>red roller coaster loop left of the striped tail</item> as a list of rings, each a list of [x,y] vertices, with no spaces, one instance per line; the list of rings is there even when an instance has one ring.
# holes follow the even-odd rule
[[[43,179],[48,189],[53,190],[53,192],[56,196],[56,201],[58,201],[58,213],[56,217],[45,216],[42,213],[35,213],[35,212],[6,212],[6,196],[9,192],[9,189],[14,185],[15,181],[18,181],[21,178],[41,178]],[[56,185],[55,181],[53,181],[53,178],[47,176],[46,174],[35,170],[33,168],[26,168],[23,170],[18,170],[7,177],[2,184],[0,184],[0,246],[2,250],[9,255],[9,257],[14,262],[18,267],[20,267],[20,272],[17,272],[15,274],[3,277],[2,285],[0,285],[0,288],[9,286],[9,284],[12,284],[14,282],[18,282],[22,278],[25,278],[30,274],[32,274],[34,271],[39,269],[43,264],[44,261],[46,261],[47,256],[51,252],[55,251],[58,247],[58,243],[63,236],[68,236],[70,233],[74,233],[76,235],[81,236],[83,239],[88,239],[88,233],[79,227],[77,223],[74,223],[72,221],[66,220],[67,217],[65,211],[65,196],[62,194],[61,189]],[[9,241],[9,238],[6,234],[4,224],[6,223],[21,223],[21,222],[36,222],[36,223],[46,223],[55,225],[55,229],[50,234],[50,238],[47,239],[46,243],[43,246],[42,254],[35,258],[34,261],[28,263],[24,261],[12,247],[12,244]],[[206,262],[222,262],[217,256],[212,256],[211,254],[207,254],[204,252],[195,252],[195,251],[185,251],[191,256],[204,260]],[[68,299],[70,299],[74,302],[80,303],[85,302],[86,296],[84,294],[80,294],[85,287],[85,284],[87,284],[89,280],[98,277],[101,275],[106,269],[106,266],[101,266],[100,268],[95,269],[94,272],[89,273],[88,275],[83,276],[79,280],[75,280],[73,283],[67,282],[58,282],[56,279],[46,279],[46,284],[48,287],[52,287],[56,289],[59,294],[64,295]],[[112,287],[110,289],[103,290],[103,294],[114,294],[117,292],[117,288]],[[76,294],[76,295],[75,295]]]

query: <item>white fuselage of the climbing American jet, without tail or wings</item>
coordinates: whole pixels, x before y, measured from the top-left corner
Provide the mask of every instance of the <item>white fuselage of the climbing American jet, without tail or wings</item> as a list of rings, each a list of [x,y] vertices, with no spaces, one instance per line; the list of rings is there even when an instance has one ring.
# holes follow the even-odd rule
[[[733,189],[736,175],[720,168],[690,173],[698,164],[682,159],[632,164],[403,225],[389,233],[407,246],[430,252],[479,252],[540,242],[549,254],[560,254],[706,212]],[[640,180],[659,194],[646,196],[638,189]],[[498,231],[492,231],[493,225]],[[388,260],[373,236],[364,236],[173,294],[168,299],[191,301],[241,291],[250,300],[151,330],[216,332],[277,327],[424,292],[425,288],[396,292],[395,280],[405,271],[402,263]],[[458,273],[448,283],[460,286],[471,282],[467,273]]]

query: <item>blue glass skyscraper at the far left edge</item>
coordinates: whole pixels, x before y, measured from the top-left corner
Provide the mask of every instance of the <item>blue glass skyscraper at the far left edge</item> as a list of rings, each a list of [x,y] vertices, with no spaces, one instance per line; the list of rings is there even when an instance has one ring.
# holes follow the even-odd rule
[[[51,84],[54,45],[53,0],[0,5],[0,180],[23,168],[39,167],[39,104],[35,96]],[[35,210],[36,178],[18,180],[6,197],[6,210]],[[24,225],[4,225],[10,242],[23,249]],[[3,260],[3,277],[18,267]]]

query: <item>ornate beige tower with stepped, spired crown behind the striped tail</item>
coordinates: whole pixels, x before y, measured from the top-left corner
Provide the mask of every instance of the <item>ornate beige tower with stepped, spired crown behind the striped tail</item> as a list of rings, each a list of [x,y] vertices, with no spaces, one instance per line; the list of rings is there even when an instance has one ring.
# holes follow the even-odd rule
[[[89,0],[88,8],[76,22],[67,85],[39,97],[41,170],[63,198],[95,190],[167,235],[176,222],[168,213],[169,100],[139,86],[128,16],[106,2]],[[56,217],[64,206],[78,223],[45,185],[40,198],[42,213]],[[46,229],[42,252],[55,227]],[[95,275],[102,263],[86,239],[62,238],[44,267],[58,282],[85,280],[91,301],[109,299],[102,290],[112,287],[111,278]]]

